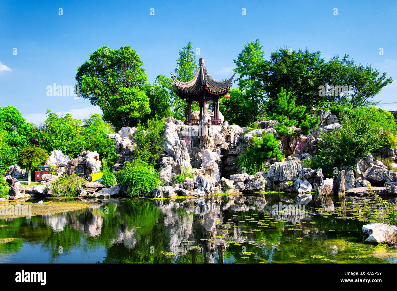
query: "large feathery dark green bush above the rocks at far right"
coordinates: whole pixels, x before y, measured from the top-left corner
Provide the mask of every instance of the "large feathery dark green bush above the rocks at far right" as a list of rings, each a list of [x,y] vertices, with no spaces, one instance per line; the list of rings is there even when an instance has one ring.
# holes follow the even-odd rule
[[[331,175],[333,167],[353,167],[357,159],[364,158],[377,146],[376,128],[361,116],[351,119],[342,116],[340,125],[321,135],[318,152],[312,160],[314,168],[322,168],[326,175]]]

